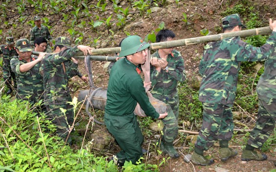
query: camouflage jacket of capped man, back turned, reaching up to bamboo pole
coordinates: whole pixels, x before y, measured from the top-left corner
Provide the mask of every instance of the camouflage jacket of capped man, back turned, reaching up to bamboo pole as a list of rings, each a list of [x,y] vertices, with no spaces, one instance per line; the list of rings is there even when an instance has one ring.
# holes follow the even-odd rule
[[[208,43],[199,64],[203,76],[199,88],[199,101],[234,104],[240,62],[267,60],[276,42],[276,32],[261,47],[255,47],[239,37],[225,38]]]

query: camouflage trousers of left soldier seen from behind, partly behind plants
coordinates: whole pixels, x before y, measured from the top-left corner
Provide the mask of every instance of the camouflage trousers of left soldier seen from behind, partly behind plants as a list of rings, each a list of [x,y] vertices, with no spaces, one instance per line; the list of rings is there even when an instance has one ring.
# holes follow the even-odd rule
[[[61,138],[66,139],[68,130],[74,121],[74,108],[72,105],[46,105],[47,116],[52,120],[52,123],[57,127],[56,134]],[[65,109],[66,112],[61,110]]]

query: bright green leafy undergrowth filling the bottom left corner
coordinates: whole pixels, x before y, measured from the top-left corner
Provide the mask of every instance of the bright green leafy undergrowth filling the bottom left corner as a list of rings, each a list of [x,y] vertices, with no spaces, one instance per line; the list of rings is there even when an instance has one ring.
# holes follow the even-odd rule
[[[83,149],[74,152],[53,134],[54,126],[37,117],[28,102],[0,97],[0,172],[117,172],[113,161]],[[46,132],[47,131],[47,132]]]

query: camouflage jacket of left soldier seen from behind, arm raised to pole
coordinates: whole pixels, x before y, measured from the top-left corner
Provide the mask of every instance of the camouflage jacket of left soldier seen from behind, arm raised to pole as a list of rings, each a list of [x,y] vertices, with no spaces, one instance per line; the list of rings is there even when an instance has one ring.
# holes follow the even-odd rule
[[[64,62],[70,60],[78,51],[79,49],[75,46],[43,57],[41,73],[45,90],[45,105],[64,105],[72,100],[68,88],[69,77]]]

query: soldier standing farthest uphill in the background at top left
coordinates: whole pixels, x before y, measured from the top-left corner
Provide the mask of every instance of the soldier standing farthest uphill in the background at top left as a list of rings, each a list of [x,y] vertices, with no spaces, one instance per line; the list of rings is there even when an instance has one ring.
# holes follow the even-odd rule
[[[45,52],[51,53],[52,52],[52,49],[51,49],[52,37],[50,35],[50,32],[49,32],[48,28],[41,24],[41,18],[39,16],[35,16],[34,21],[35,21],[36,25],[31,30],[31,38],[30,38],[31,44],[34,46],[35,45],[34,44],[35,40],[38,37],[43,37],[48,42]]]

